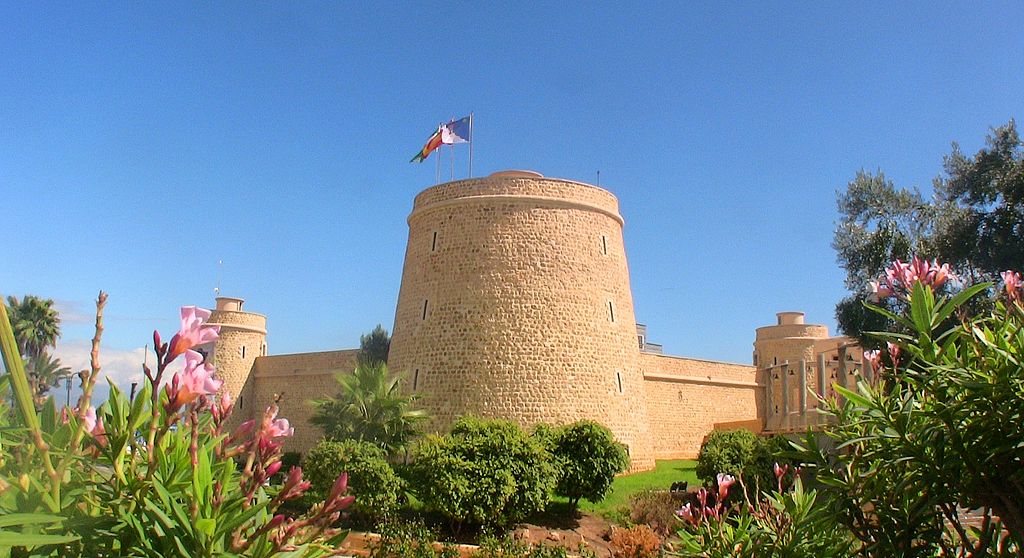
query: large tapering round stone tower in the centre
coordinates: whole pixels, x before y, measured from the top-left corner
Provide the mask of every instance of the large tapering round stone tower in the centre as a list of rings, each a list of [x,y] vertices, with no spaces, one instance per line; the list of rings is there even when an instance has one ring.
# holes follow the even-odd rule
[[[653,466],[618,202],[505,171],[416,197],[388,364],[443,430],[592,419]]]

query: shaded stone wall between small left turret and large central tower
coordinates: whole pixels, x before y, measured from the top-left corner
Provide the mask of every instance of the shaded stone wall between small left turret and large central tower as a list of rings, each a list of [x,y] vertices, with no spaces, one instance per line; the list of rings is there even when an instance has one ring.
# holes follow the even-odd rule
[[[339,374],[355,370],[358,349],[261,356],[253,374],[252,407],[257,416],[280,396],[279,416],[295,427],[295,435],[285,438],[286,452],[306,453],[324,437],[319,427],[309,423],[313,416],[310,399],[337,395]]]

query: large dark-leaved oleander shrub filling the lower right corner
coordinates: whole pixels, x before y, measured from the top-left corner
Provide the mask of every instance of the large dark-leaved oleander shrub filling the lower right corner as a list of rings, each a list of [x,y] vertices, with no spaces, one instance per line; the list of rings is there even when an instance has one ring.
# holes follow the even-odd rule
[[[909,333],[881,335],[886,362],[865,354],[879,382],[839,388],[842,400],[829,402],[835,425],[825,433],[841,450],[808,439],[817,479],[836,492],[833,511],[863,555],[1021,552],[1024,306],[1019,275],[1004,276],[1006,296],[992,312],[954,326],[950,316],[990,284],[953,297],[937,297],[929,276],[897,285],[888,294],[908,311],[876,311]],[[977,509],[977,526],[959,509]]]

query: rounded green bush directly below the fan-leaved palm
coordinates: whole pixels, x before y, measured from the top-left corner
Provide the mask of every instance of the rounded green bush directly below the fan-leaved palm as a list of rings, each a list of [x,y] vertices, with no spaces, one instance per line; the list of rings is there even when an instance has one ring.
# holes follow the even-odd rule
[[[312,483],[313,500],[329,493],[334,479],[347,472],[348,493],[355,497],[349,511],[357,521],[384,519],[398,509],[402,481],[373,443],[322,440],[306,454],[302,470]]]

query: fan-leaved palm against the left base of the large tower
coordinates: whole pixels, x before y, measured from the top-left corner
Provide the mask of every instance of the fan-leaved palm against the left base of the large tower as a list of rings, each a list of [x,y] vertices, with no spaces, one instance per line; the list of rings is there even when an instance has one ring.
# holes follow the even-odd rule
[[[401,393],[400,380],[388,377],[383,362],[359,364],[338,376],[337,396],[313,401],[316,412],[309,422],[329,439],[368,441],[395,455],[420,435],[427,419],[424,411],[412,409],[416,396]]]

